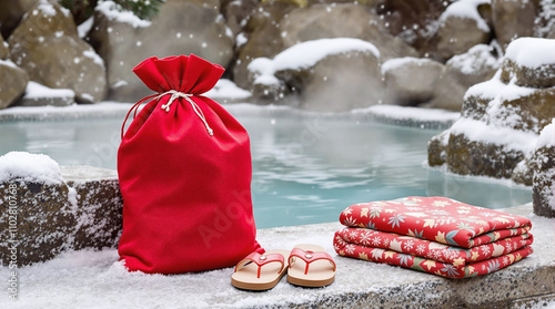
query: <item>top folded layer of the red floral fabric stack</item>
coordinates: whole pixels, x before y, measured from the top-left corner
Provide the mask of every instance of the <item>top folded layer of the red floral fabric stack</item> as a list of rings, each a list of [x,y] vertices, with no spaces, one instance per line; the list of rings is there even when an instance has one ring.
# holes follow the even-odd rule
[[[521,216],[446,197],[415,196],[349,206],[340,222],[463,248],[523,235],[532,228],[529,219]]]

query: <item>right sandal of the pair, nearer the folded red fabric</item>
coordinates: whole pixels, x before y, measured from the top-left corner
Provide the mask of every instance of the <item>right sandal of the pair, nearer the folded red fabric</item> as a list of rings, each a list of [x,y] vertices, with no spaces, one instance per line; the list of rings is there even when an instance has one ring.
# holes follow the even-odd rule
[[[335,261],[324,248],[297,245],[289,256],[287,281],[302,287],[325,287],[335,280]]]

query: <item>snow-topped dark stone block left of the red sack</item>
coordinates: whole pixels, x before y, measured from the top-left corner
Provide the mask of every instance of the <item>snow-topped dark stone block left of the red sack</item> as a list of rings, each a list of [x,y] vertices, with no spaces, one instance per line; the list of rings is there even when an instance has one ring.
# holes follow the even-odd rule
[[[46,155],[0,157],[0,264],[46,261],[68,249],[115,248],[118,177],[90,166],[60,167]]]

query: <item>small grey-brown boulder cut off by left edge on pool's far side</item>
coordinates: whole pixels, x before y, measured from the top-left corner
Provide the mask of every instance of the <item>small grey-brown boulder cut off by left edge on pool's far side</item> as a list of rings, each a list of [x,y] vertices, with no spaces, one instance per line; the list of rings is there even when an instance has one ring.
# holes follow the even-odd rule
[[[11,61],[0,60],[0,110],[13,104],[24,92],[29,75]]]

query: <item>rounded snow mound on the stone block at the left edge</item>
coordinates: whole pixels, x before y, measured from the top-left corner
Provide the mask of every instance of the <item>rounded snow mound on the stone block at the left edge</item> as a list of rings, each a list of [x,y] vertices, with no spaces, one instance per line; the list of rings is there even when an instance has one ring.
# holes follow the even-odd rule
[[[26,152],[9,152],[0,156],[0,183],[13,178],[47,185],[63,182],[60,165],[56,161],[48,155]]]

